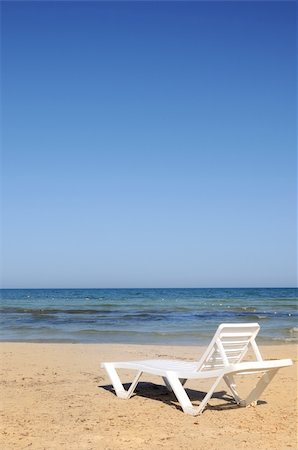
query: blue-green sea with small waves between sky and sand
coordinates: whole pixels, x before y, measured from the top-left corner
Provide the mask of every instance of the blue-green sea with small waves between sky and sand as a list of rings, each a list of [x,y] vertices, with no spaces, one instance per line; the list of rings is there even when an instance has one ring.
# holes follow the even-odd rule
[[[262,343],[298,341],[298,289],[1,289],[0,340],[206,344],[258,322]]]

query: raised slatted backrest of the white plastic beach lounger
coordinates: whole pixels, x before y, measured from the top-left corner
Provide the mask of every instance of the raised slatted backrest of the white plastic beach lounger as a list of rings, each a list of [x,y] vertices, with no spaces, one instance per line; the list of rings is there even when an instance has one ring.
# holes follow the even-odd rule
[[[252,346],[257,360],[262,360],[255,337],[260,329],[257,323],[221,324],[210,345],[198,363],[198,371],[216,370],[239,363]]]

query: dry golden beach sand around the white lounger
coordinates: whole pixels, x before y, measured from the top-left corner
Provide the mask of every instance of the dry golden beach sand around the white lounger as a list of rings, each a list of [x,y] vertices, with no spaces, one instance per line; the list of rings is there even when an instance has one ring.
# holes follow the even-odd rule
[[[264,358],[292,358],[295,364],[278,372],[257,407],[233,405],[221,384],[198,417],[182,413],[162,379],[154,376],[144,374],[130,400],[118,399],[99,364],[147,357],[196,359],[203,348],[44,343],[0,347],[2,450],[297,448],[294,345],[262,347]],[[130,379],[124,371],[124,382]],[[240,386],[247,389],[242,378]],[[192,381],[187,387],[198,403],[207,383]]]

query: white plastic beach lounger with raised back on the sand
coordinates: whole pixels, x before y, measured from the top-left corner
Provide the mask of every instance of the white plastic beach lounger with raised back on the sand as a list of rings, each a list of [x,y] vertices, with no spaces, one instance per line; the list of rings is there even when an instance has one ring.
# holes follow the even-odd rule
[[[221,324],[207,350],[198,362],[181,360],[152,359],[144,361],[104,362],[104,368],[118,397],[128,399],[133,394],[143,372],[160,375],[167,388],[173,391],[186,414],[196,416],[203,412],[218,383],[223,379],[229,387],[235,402],[240,406],[256,405],[264,389],[282,367],[293,364],[291,359],[262,359],[255,338],[260,329],[257,323]],[[243,362],[249,346],[252,347],[256,360]],[[116,369],[132,369],[137,375],[126,391]],[[237,392],[235,375],[261,372],[255,388],[241,399]],[[188,379],[214,379],[209,391],[199,406],[193,406],[183,385]]]

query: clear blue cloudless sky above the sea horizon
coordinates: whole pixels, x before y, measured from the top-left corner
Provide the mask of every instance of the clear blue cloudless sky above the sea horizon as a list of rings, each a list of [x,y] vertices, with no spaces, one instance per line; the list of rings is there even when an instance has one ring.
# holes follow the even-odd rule
[[[2,2],[2,287],[297,284],[294,2]]]

